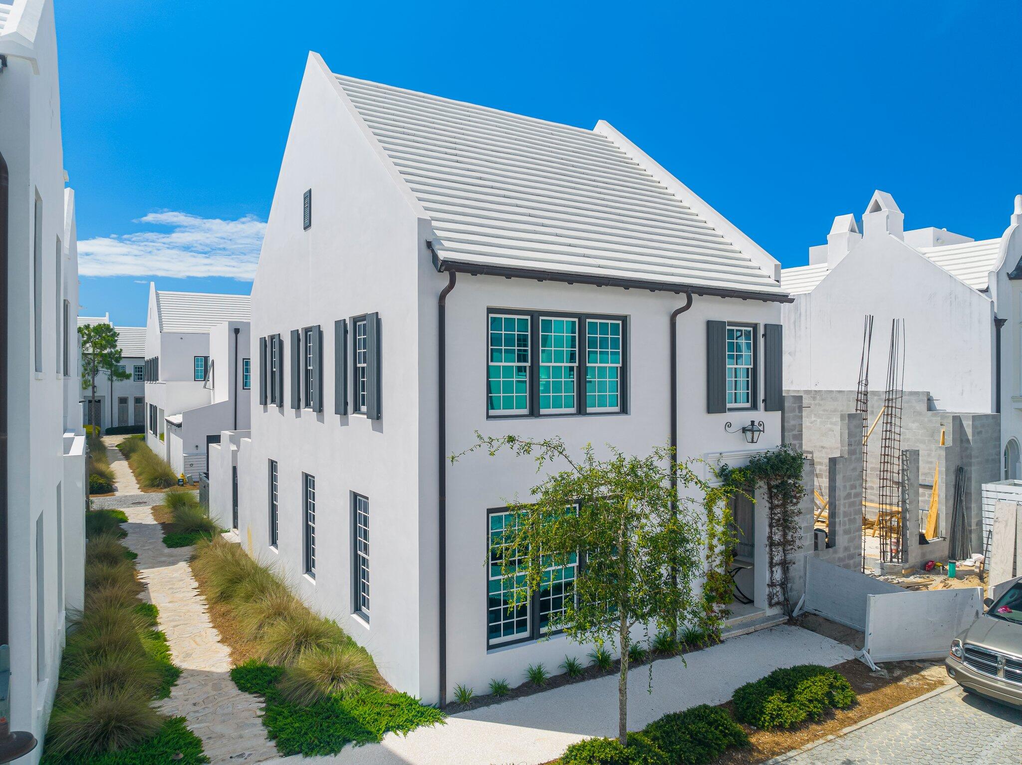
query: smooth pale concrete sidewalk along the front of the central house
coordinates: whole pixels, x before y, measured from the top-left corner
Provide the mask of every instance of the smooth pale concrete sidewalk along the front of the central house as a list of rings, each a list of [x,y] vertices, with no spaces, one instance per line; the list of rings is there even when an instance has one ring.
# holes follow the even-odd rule
[[[722,704],[735,688],[778,667],[833,666],[853,658],[852,649],[799,627],[782,626],[726,640],[704,651],[629,674],[629,727],[644,727],[667,712]],[[477,688],[478,690],[479,688]],[[450,717],[446,725],[388,733],[380,744],[345,747],[332,757],[288,757],[276,763],[315,761],[333,765],[535,765],[560,756],[586,736],[617,734],[617,677],[565,685],[544,694]]]

